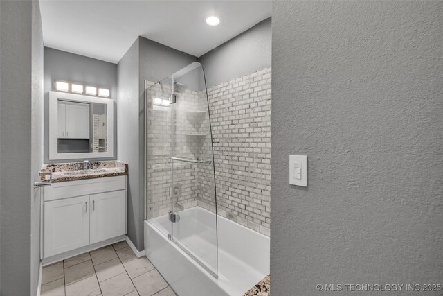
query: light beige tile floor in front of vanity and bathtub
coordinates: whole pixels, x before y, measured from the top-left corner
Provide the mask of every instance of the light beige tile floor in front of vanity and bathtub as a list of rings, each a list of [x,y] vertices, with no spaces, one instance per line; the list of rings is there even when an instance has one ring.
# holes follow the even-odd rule
[[[174,296],[145,256],[122,241],[45,266],[42,296]]]

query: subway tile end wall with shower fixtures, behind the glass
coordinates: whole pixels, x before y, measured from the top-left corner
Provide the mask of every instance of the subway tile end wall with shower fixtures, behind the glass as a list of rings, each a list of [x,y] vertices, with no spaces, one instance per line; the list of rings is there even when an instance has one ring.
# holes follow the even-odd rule
[[[169,99],[171,85],[147,83],[147,218],[168,214],[171,209],[171,182],[179,185],[179,198],[174,198],[183,207],[197,206],[196,164],[174,162],[174,175],[171,175],[172,145],[172,108],[154,105],[154,98]],[[177,95],[179,112],[174,116],[174,156],[193,158],[192,148],[197,143],[188,141],[188,134],[195,131],[188,124],[185,110],[194,110],[198,104],[199,93],[186,90]]]

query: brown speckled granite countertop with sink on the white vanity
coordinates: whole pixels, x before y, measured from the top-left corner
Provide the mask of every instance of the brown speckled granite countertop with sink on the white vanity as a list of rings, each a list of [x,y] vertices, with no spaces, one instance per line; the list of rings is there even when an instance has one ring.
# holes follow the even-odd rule
[[[83,162],[44,164],[40,169],[42,182],[49,182],[49,172],[53,172],[53,183],[127,175],[127,164],[118,160],[89,162],[87,170]]]

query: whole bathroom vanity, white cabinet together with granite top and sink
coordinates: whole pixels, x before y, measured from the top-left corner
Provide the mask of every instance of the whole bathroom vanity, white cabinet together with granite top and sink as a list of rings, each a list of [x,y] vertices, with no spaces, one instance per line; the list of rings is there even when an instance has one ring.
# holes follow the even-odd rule
[[[121,241],[127,233],[127,164],[45,164],[41,170],[42,261]]]

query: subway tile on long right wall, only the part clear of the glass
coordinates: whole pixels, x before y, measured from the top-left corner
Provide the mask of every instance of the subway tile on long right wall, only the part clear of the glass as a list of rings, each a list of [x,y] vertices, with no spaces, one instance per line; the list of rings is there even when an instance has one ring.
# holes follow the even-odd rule
[[[271,67],[210,87],[208,98],[217,212],[269,236]],[[212,205],[205,195],[200,203]]]

